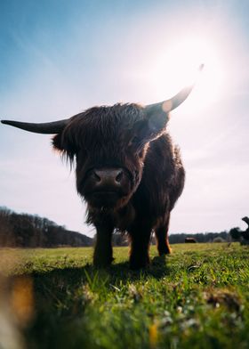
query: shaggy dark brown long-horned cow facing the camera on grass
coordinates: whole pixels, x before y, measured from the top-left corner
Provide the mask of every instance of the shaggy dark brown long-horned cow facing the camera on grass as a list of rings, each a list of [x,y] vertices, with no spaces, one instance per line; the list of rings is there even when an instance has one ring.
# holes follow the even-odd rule
[[[191,89],[146,107],[133,103],[95,107],[52,123],[2,121],[30,132],[56,134],[53,147],[71,162],[76,160],[76,188],[87,203],[87,223],[97,231],[95,265],[111,264],[115,229],[130,236],[133,269],[149,264],[153,230],[159,255],[170,253],[170,212],[183,189],[184,169],[165,127],[169,111]]]

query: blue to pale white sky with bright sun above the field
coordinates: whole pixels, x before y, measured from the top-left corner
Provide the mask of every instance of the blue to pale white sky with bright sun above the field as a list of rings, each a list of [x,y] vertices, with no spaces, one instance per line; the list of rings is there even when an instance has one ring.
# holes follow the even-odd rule
[[[245,0],[2,1],[0,118],[43,122],[92,105],[169,98],[188,69],[186,43],[197,39],[213,55],[168,125],[187,171],[170,231],[243,228],[240,218],[249,215],[248,13]],[[198,49],[189,57],[196,64]],[[92,234],[74,174],[50,138],[0,126],[0,205]]]

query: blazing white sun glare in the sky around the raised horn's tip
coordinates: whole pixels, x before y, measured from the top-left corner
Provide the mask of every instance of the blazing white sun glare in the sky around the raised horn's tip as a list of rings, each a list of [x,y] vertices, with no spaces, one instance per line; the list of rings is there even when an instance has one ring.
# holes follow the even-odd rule
[[[202,63],[205,67],[199,74]],[[211,41],[185,39],[167,47],[157,54],[152,74],[159,99],[165,88],[166,93],[176,93],[185,85],[197,82],[192,98],[197,108],[218,100],[225,88],[224,62]]]

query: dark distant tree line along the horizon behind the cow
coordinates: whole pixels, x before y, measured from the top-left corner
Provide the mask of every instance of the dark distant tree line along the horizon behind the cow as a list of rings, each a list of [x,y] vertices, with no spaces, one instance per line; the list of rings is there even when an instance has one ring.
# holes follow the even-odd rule
[[[238,240],[240,237],[249,239],[249,228],[245,232],[240,231],[239,228],[233,228],[229,232],[176,233],[169,235],[169,241],[171,244],[179,244],[184,243],[186,238],[194,238],[197,242],[222,242],[231,239]],[[58,225],[47,218],[39,215],[17,214],[7,207],[0,207],[0,247],[84,247],[92,246],[93,243],[94,238],[91,239],[76,231],[68,231],[64,226]],[[156,244],[155,237],[152,237],[151,243]],[[128,246],[127,235],[115,231],[113,245]]]

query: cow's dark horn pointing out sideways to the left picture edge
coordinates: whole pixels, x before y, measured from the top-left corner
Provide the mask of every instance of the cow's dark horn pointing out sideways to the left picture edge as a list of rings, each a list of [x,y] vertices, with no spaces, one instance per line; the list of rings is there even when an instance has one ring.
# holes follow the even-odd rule
[[[67,118],[59,121],[36,124],[21,121],[1,120],[2,124],[18,127],[25,131],[34,132],[35,134],[59,134],[63,128],[68,125],[69,121],[70,118]]]

